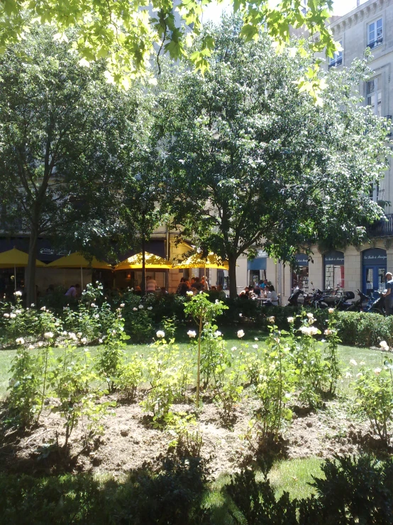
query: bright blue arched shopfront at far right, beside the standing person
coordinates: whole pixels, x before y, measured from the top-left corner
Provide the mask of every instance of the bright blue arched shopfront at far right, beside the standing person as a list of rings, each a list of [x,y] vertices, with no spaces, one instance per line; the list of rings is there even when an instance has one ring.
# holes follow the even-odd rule
[[[377,296],[375,291],[383,292],[387,269],[386,250],[371,248],[362,252],[362,291],[367,296]]]

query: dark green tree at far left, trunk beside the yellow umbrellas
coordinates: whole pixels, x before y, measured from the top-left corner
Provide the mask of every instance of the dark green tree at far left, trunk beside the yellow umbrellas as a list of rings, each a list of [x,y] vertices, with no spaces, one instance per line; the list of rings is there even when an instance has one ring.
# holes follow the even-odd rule
[[[52,36],[38,28],[0,60],[0,204],[30,234],[28,304],[40,235],[62,232],[75,247],[99,246],[104,255],[143,141],[138,91],[118,92],[101,64],[80,66],[71,45]]]

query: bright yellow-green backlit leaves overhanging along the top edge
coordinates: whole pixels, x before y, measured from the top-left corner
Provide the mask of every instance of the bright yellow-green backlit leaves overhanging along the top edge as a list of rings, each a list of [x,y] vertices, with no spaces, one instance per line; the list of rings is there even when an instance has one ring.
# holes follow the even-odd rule
[[[9,43],[16,43],[31,29],[34,21],[52,23],[55,38],[67,38],[65,32],[76,33],[74,47],[82,63],[106,60],[109,80],[128,87],[140,72],[148,70],[152,55],[162,51],[173,59],[189,56],[197,68],[209,66],[214,49],[214,36],[204,34],[203,45],[189,52],[187,41],[201,31],[201,14],[212,0],[0,0],[0,52]],[[306,5],[306,9],[302,5]],[[333,56],[336,43],[327,28],[333,0],[282,0],[272,7],[268,0],[233,0],[233,9],[241,14],[245,40],[258,38],[258,30],[266,25],[270,36],[281,47],[289,43],[290,28],[304,26],[311,35],[311,51],[326,48]],[[319,38],[313,38],[319,33]],[[306,85],[318,90],[315,82]]]

